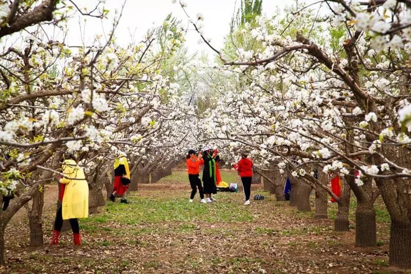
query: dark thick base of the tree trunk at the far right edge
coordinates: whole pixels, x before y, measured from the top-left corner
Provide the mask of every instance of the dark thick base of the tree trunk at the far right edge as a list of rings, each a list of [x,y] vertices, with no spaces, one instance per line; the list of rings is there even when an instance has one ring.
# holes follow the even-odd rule
[[[389,265],[411,268],[411,226],[391,219]]]

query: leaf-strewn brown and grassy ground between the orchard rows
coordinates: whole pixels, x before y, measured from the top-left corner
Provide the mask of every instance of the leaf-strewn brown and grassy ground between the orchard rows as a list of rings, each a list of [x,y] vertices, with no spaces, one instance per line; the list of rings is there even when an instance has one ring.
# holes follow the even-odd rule
[[[222,171],[228,181],[235,172]],[[28,220],[20,214],[6,231],[7,266],[0,272],[255,272],[255,273],[389,273],[389,216],[376,203],[378,246],[354,246],[355,197],[351,196],[349,232],[334,232],[336,204],[329,220],[317,221],[276,202],[252,186],[252,195],[265,199],[243,206],[243,194],[218,193],[217,202],[188,203],[190,186],[185,170],[174,170],[157,184],[141,184],[128,195],[130,204],[108,202],[99,213],[80,221],[81,248],[73,248],[71,231],[59,246],[49,246],[57,188],[49,186],[45,205],[45,245],[29,246]],[[313,198],[313,195],[311,195]],[[313,204],[312,204],[313,205]],[[24,225],[23,225],[24,224]]]

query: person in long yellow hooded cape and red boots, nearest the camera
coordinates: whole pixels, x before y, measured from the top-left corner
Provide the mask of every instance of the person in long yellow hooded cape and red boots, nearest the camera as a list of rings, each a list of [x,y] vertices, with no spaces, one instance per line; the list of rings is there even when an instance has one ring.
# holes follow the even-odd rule
[[[88,217],[88,184],[83,168],[77,163],[77,157],[73,153],[64,155],[62,165],[63,176],[60,178],[60,202],[55,215],[53,234],[50,244],[59,243],[60,231],[63,220],[69,220],[73,231],[74,245],[81,245],[78,218]]]

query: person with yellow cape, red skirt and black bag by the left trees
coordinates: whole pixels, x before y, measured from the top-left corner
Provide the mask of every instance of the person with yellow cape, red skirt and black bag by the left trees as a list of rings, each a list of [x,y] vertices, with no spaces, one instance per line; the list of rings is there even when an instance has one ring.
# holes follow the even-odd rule
[[[110,195],[111,202],[115,202],[116,196],[121,197],[120,203],[128,204],[125,199],[130,184],[130,169],[126,157],[116,158],[114,161],[114,184],[113,193]]]

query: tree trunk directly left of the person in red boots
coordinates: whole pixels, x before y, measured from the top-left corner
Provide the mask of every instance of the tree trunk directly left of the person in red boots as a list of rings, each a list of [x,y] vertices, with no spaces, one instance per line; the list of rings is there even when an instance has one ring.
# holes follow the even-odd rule
[[[44,188],[44,184],[41,185]],[[44,191],[37,191],[33,196],[33,204],[28,212],[30,226],[30,246],[43,245],[42,213],[44,205]]]

